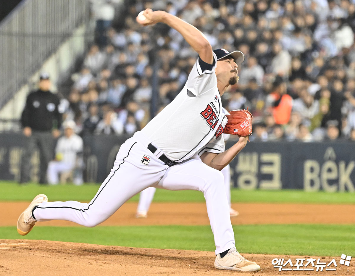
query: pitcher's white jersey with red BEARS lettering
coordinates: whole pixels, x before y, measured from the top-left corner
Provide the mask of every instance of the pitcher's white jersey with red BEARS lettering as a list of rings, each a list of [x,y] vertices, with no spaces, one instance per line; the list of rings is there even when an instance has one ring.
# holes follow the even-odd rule
[[[155,116],[142,133],[173,161],[181,162],[195,153],[224,151],[223,133],[229,113],[222,107],[213,65],[200,57],[176,98]]]

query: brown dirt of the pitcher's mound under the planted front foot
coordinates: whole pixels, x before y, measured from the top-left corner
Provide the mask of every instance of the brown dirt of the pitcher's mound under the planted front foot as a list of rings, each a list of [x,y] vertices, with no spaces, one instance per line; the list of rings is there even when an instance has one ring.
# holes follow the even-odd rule
[[[309,258],[244,254],[261,266],[260,272],[243,275],[355,275],[351,266],[336,271],[278,271],[273,258]],[[317,259],[319,257],[314,257]],[[332,257],[322,261],[329,263]],[[214,253],[192,250],[129,248],[84,243],[0,240],[0,275],[231,275],[213,267]],[[242,274],[240,274],[242,275]]]

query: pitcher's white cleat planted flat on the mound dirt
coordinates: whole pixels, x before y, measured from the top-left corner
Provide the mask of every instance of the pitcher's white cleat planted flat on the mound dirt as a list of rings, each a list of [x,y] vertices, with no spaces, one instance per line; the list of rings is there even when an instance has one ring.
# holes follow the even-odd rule
[[[214,267],[217,269],[238,270],[242,272],[260,270],[260,266],[257,265],[257,263],[245,259],[235,248],[229,249],[227,255],[223,258],[220,257],[220,254],[217,254]]]

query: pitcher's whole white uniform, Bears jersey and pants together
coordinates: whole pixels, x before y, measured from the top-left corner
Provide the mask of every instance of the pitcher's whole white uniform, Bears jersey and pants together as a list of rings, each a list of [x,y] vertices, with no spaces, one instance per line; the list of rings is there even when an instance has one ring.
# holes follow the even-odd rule
[[[148,187],[196,190],[202,191],[206,199],[215,254],[235,248],[229,205],[220,186],[223,174],[197,156],[203,151],[219,153],[224,150],[222,132],[228,113],[221,106],[214,73],[217,58],[213,56],[213,65],[198,59],[176,99],[142,131],[121,145],[110,174],[90,203],[43,202],[33,210],[33,218],[37,221],[68,220],[93,227]],[[160,151],[152,153],[148,149],[149,143],[170,160],[180,163],[165,165],[158,157]]]

